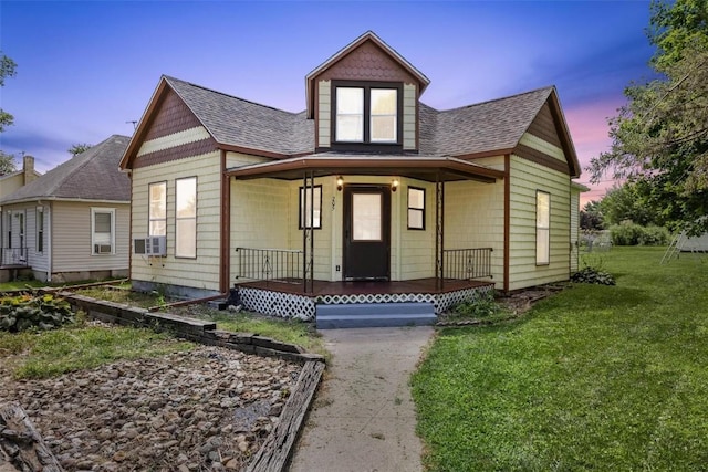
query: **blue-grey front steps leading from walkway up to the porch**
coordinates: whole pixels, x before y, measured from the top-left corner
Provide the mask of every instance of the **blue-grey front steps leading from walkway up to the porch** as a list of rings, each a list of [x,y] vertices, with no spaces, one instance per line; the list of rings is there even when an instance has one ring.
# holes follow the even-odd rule
[[[423,302],[317,305],[315,316],[317,329],[425,326],[437,319],[435,305]]]

